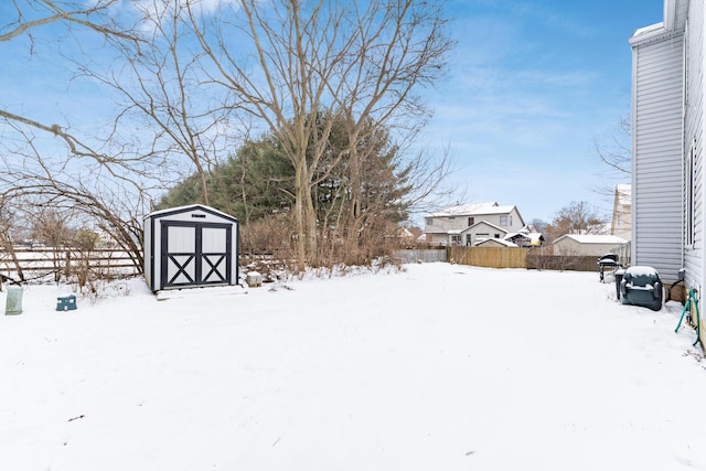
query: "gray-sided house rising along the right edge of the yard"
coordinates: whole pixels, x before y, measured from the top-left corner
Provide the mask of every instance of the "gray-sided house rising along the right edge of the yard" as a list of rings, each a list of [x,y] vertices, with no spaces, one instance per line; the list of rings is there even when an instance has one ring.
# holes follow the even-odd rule
[[[706,281],[704,1],[665,0],[632,46],[632,264]]]

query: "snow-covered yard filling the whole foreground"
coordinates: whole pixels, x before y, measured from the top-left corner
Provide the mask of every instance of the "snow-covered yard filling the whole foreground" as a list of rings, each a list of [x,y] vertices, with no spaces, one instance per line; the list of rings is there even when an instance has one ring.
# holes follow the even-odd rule
[[[69,312],[26,288],[0,315],[0,470],[706,470],[677,303],[449,264],[287,287],[137,281]]]

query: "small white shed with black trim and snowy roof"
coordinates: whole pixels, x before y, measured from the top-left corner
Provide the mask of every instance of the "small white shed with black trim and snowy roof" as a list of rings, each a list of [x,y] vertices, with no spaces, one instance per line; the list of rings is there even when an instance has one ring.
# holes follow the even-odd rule
[[[238,282],[238,221],[194,204],[145,217],[145,279],[156,292]]]

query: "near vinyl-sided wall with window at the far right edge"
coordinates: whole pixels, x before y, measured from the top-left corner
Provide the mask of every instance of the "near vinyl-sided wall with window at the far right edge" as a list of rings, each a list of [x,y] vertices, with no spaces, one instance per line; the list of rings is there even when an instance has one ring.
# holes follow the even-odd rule
[[[704,283],[704,3],[689,2],[686,29],[686,93],[684,159],[694,149],[694,243],[684,250],[687,287],[699,288]],[[686,163],[686,160],[685,160]],[[685,176],[689,169],[684,168]],[[688,179],[684,178],[683,197],[687,201]],[[688,217],[687,208],[684,217]]]

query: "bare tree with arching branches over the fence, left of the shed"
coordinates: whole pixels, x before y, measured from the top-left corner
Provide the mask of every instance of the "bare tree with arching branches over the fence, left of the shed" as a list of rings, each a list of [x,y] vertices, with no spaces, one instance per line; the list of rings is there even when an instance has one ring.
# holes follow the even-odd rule
[[[87,165],[71,154],[44,158],[34,138],[23,136],[24,143],[0,149],[1,197],[12,204],[17,218],[35,227],[35,237],[55,248],[72,244],[75,231],[90,224],[109,234],[141,270],[147,193],[136,188],[149,191],[149,186],[139,180],[139,172],[103,171],[101,164]]]

